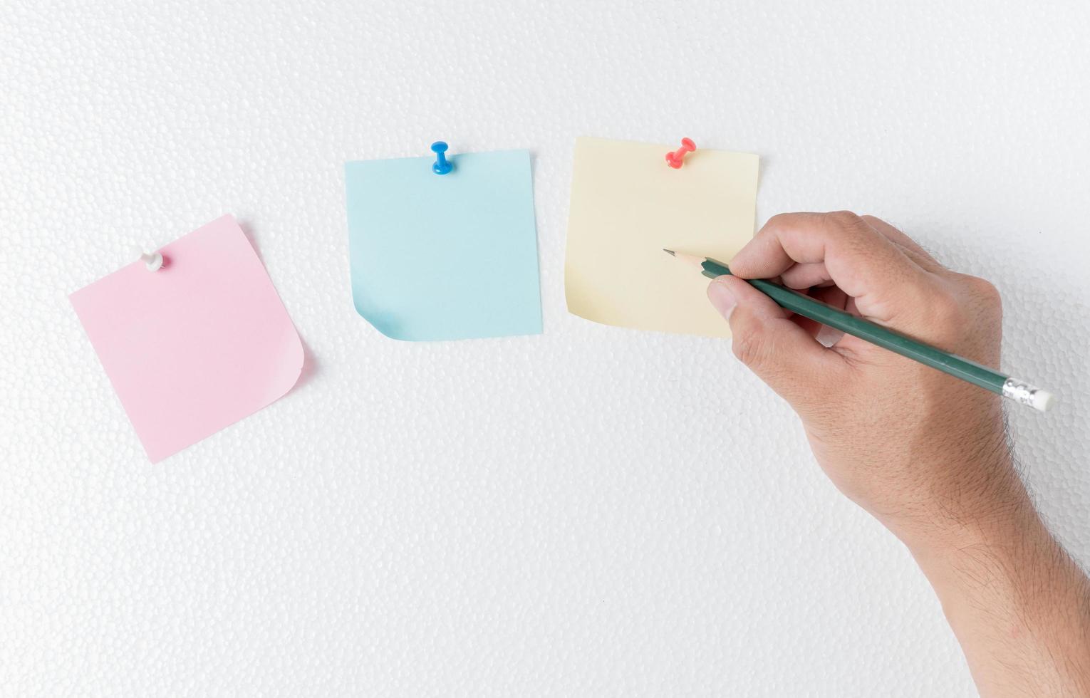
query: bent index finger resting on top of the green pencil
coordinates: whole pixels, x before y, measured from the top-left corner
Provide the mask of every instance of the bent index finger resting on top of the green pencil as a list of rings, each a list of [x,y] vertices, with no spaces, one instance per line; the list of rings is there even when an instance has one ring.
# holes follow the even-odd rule
[[[744,279],[786,273],[796,264],[824,262],[828,277],[856,298],[860,311],[905,330],[925,327],[940,280],[855,213],[773,217],[730,262]],[[800,272],[801,273],[801,272]]]

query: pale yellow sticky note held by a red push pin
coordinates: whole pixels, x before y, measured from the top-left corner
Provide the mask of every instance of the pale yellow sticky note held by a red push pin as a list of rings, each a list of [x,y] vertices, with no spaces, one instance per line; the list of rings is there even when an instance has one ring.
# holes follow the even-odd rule
[[[663,248],[729,261],[753,236],[758,157],[697,150],[675,170],[668,145],[577,138],[568,218],[568,311],[661,332],[730,336],[707,279]]]

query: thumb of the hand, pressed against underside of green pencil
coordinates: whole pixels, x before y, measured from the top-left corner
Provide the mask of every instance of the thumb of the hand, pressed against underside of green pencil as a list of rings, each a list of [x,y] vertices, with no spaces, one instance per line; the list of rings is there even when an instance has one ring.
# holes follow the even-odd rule
[[[724,275],[707,286],[707,298],[730,322],[735,356],[796,409],[821,395],[843,359],[822,346],[776,305],[738,277]]]

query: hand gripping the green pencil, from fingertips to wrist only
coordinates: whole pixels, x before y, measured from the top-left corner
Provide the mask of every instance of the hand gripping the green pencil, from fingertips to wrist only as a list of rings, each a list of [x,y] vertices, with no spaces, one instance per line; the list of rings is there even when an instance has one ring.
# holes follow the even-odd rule
[[[910,546],[1028,505],[998,395],[792,316],[742,279],[778,278],[835,307],[997,366],[995,287],[950,271],[907,235],[849,212],[772,218],[708,297],[734,352],[802,419],[833,482]],[[828,330],[826,330],[828,332]],[[823,333],[824,334],[824,333]]]

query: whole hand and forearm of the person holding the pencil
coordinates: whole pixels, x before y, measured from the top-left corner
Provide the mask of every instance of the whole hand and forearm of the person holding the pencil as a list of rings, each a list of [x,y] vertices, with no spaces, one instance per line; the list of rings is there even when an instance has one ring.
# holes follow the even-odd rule
[[[1049,534],[1015,472],[1000,396],[850,335],[831,346],[743,279],[776,279],[997,366],[992,284],[855,213],[770,220],[707,295],[735,354],[802,418],[845,494],[912,552],[982,696],[1090,696],[1090,580]]]

